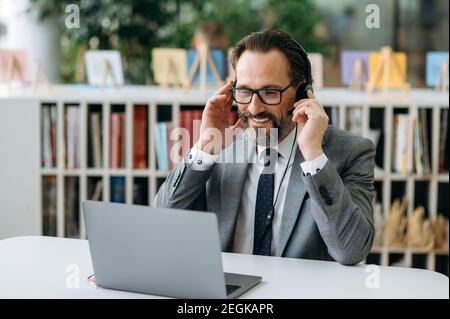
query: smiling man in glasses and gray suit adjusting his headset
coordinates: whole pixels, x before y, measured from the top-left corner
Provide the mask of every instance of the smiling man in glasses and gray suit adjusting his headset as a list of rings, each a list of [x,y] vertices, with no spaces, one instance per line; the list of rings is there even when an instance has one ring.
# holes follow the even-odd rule
[[[167,177],[155,205],[216,213],[223,251],[357,264],[374,238],[374,146],[329,126],[312,90],[296,101],[312,82],[302,52],[276,30],[236,44],[236,80],[208,100],[199,141]],[[225,136],[233,100],[240,117],[233,130],[245,130],[227,146],[209,130]],[[277,129],[276,145],[270,131],[250,138],[252,129]],[[250,155],[236,160],[243,150]]]

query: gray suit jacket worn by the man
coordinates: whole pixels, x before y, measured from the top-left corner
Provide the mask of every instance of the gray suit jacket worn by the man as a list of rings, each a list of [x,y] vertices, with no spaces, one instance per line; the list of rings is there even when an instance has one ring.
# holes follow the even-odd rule
[[[241,138],[224,149],[221,160],[206,171],[181,162],[154,205],[216,213],[222,250],[230,252],[249,165],[236,157],[247,143]],[[327,164],[311,176],[303,175],[304,158],[296,147],[276,255],[356,264],[367,257],[374,238],[374,145],[330,125],[322,147]]]

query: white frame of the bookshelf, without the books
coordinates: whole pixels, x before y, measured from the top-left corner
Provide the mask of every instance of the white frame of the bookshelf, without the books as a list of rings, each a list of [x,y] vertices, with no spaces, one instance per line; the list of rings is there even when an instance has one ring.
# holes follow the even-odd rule
[[[57,121],[57,165],[52,168],[42,168],[41,161],[41,147],[38,144],[40,139],[31,139],[29,143],[33,143],[33,158],[30,159],[30,163],[33,163],[34,167],[38,167],[37,175],[30,177],[30,181],[34,183],[32,187],[38,200],[32,203],[33,216],[37,222],[33,222],[34,234],[42,234],[42,179],[46,177],[56,178],[57,187],[57,236],[64,237],[64,225],[65,225],[65,194],[64,194],[64,180],[67,177],[76,177],[79,181],[79,194],[80,200],[87,198],[87,185],[90,178],[99,178],[103,181],[103,198],[102,200],[107,202],[110,200],[110,179],[114,176],[121,176],[125,178],[125,202],[133,203],[133,180],[135,178],[146,178],[148,185],[148,201],[151,203],[152,199],[156,195],[158,185],[164,180],[168,172],[161,172],[156,168],[156,156],[155,156],[155,143],[153,137],[153,127],[158,119],[158,110],[160,108],[170,108],[171,121],[178,125],[180,122],[180,110],[181,107],[195,107],[205,104],[207,98],[213,93],[212,90],[202,95],[198,90],[191,90],[188,93],[182,90],[166,89],[162,90],[158,87],[151,86],[131,86],[124,87],[119,90],[112,89],[92,89],[92,88],[77,88],[72,86],[57,86],[54,93],[39,93],[33,94],[32,92],[3,92],[0,93],[0,112],[2,107],[6,108],[11,101],[23,105],[28,105],[29,108],[40,108],[44,103],[52,103],[57,107],[58,121]],[[385,217],[389,213],[389,209],[392,203],[392,191],[393,184],[403,185],[405,189],[405,195],[409,199],[408,215],[414,210],[414,202],[417,196],[425,196],[424,194],[417,194],[416,188],[420,183],[425,183],[427,188],[427,203],[426,208],[429,216],[434,220],[438,214],[438,191],[440,187],[447,187],[449,182],[448,172],[440,173],[438,171],[439,160],[439,138],[440,138],[440,116],[443,109],[449,107],[448,94],[438,93],[431,89],[414,89],[411,91],[409,97],[391,97],[384,99],[378,96],[367,96],[363,92],[349,91],[345,88],[322,88],[315,92],[317,98],[327,109],[333,109],[333,118],[336,126],[346,129],[346,123],[348,115],[348,109],[359,108],[361,112],[362,130],[361,135],[370,137],[370,114],[373,112],[381,112],[383,114],[383,123],[380,123],[384,127],[384,168],[377,168],[375,172],[375,182],[381,186],[381,198],[382,207]],[[81,122],[80,122],[80,164],[76,169],[66,169],[64,163],[64,107],[66,104],[76,104],[80,108]],[[89,107],[91,105],[100,105],[102,113],[102,150],[103,150],[103,167],[90,168],[87,163],[87,116],[89,113]],[[110,125],[109,118],[111,115],[111,107],[113,105],[123,105],[125,109],[125,140],[126,140],[126,164],[123,168],[111,169],[109,168],[109,145],[110,145]],[[133,110],[135,105],[147,105],[148,107],[148,168],[147,169],[134,169],[132,167],[133,156]],[[405,112],[411,116],[415,114],[417,109],[426,108],[431,114],[431,120],[433,125],[431,126],[431,174],[425,176],[419,176],[417,174],[409,174],[402,176],[391,171],[391,156],[392,156],[392,134],[393,134],[393,117],[397,109],[404,109]],[[380,113],[380,114],[381,114]],[[1,115],[2,113],[0,113]],[[35,121],[32,129],[35,131],[25,131],[24,134],[30,136],[40,136],[40,111],[33,109],[33,121]],[[331,118],[331,117],[330,117]],[[165,119],[167,120],[167,119]],[[1,120],[0,120],[1,121]],[[0,123],[2,124],[2,123]],[[0,125],[1,127],[1,125]],[[8,132],[1,131],[1,134],[8,134]],[[36,149],[38,150],[36,152]],[[409,154],[412,156],[412,154]],[[11,157],[12,161],[13,157]],[[20,167],[16,167],[20,174]],[[8,183],[2,181],[0,176],[0,183]],[[5,184],[6,185],[6,184]],[[445,185],[445,186],[444,186]],[[6,187],[6,186],[5,186]],[[417,190],[419,192],[420,190]],[[1,196],[1,195],[0,195]],[[31,196],[31,195],[30,195]],[[1,199],[1,198],[0,198]],[[447,200],[448,201],[448,200]],[[15,209],[11,207],[11,209]],[[447,204],[448,209],[448,204]],[[441,212],[448,217],[448,211]],[[0,214],[0,218],[8,218],[5,213]],[[1,223],[0,223],[1,224]],[[80,209],[79,219],[80,236],[85,237],[84,223],[82,220],[82,214]],[[0,228],[0,231],[2,229]],[[29,231],[28,231],[29,232]],[[0,233],[0,237],[1,237]],[[431,250],[424,251],[421,249],[413,249],[410,247],[405,248],[392,248],[386,245],[382,247],[374,247],[372,250],[373,256],[378,256],[379,263],[381,265],[390,265],[391,255],[404,256],[405,262],[408,266],[414,266],[414,256],[420,255],[426,259],[425,268],[430,270],[436,269],[436,257],[444,256],[448,258],[447,250]],[[448,267],[448,259],[447,259]],[[448,270],[447,270],[448,273]]]

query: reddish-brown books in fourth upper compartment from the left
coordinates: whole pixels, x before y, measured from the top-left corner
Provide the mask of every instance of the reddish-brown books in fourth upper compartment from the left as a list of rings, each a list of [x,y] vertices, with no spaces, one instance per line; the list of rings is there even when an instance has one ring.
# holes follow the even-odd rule
[[[111,113],[110,124],[110,168],[125,167],[125,113]]]

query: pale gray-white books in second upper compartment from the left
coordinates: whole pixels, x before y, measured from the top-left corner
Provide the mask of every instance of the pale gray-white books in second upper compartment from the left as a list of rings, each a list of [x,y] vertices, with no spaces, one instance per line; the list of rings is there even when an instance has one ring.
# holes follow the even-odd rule
[[[80,108],[69,105],[66,109],[66,163],[68,169],[80,165]]]

